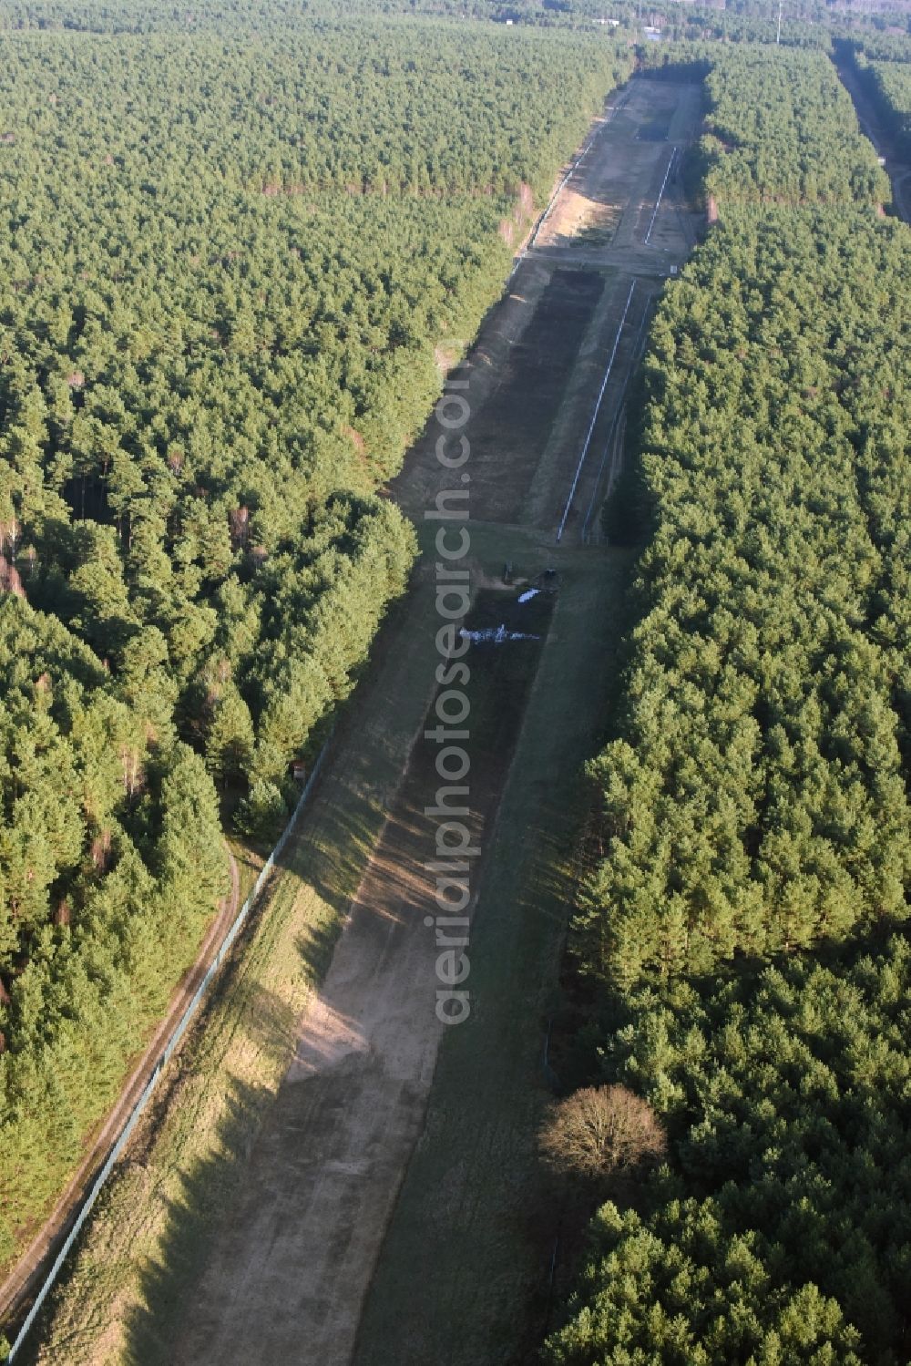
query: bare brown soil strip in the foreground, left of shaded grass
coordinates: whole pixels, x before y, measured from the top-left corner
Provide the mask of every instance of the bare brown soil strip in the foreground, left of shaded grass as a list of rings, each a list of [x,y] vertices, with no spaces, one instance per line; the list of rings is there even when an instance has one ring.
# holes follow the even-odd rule
[[[421,800],[408,784],[387,822],[178,1363],[335,1366],[350,1356],[359,1303],[339,1291],[361,1281],[376,1255],[421,1128],[441,1027],[421,918],[430,895]]]

